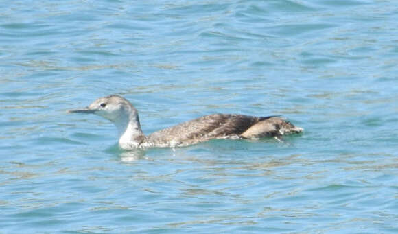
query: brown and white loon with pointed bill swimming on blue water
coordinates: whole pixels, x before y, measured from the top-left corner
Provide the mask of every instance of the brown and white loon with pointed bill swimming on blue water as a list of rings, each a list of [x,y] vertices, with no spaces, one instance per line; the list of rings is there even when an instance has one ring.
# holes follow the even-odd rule
[[[279,116],[254,117],[248,115],[213,114],[185,121],[145,136],[141,130],[138,111],[124,97],[100,97],[90,106],[69,113],[92,113],[115,124],[119,132],[119,147],[123,150],[137,148],[174,148],[193,145],[211,139],[259,139],[303,132]]]

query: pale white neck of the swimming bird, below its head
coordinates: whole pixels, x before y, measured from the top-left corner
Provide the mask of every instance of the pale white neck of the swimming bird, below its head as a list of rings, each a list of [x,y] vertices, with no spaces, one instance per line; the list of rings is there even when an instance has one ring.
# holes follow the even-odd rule
[[[141,130],[137,111],[124,115],[115,121],[119,132],[119,145],[122,149],[139,148],[145,135]]]

